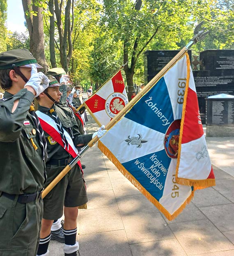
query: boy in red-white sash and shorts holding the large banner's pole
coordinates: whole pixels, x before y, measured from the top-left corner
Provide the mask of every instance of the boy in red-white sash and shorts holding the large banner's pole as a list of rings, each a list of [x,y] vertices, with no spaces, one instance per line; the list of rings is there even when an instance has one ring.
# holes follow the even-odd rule
[[[60,84],[50,77],[49,87],[39,95],[37,114],[46,136],[48,161],[46,172],[48,180],[45,187],[77,155],[76,147],[83,147],[93,136],[101,137],[106,130],[99,129],[94,134],[81,135],[70,108],[59,104],[62,93]],[[78,207],[85,208],[87,203],[85,181],[80,162],[44,198],[44,214],[37,255],[47,256],[50,241],[50,228],[54,219],[64,212],[64,255],[76,256],[79,244],[76,241]]]

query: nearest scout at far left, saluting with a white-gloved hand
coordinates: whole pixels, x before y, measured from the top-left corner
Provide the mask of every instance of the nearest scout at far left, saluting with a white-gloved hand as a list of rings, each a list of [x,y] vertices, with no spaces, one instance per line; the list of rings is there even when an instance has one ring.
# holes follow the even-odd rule
[[[0,53],[0,255],[34,256],[43,213],[46,139],[31,103],[48,87],[27,49]]]

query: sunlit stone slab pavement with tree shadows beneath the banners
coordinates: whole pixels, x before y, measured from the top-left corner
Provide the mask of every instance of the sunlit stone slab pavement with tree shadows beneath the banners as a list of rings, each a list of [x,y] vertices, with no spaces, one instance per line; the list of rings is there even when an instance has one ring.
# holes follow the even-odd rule
[[[90,116],[86,129],[98,129]],[[80,255],[234,256],[234,139],[206,139],[216,186],[196,191],[173,221],[94,145],[82,159],[89,202],[77,219]],[[62,246],[51,241],[49,255],[63,256]]]

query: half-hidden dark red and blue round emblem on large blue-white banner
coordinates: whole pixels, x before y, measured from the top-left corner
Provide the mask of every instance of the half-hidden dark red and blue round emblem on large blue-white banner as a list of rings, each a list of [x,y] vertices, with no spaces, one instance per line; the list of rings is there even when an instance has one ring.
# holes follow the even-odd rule
[[[170,158],[177,158],[179,150],[179,129],[181,119],[174,120],[164,137],[164,148]]]

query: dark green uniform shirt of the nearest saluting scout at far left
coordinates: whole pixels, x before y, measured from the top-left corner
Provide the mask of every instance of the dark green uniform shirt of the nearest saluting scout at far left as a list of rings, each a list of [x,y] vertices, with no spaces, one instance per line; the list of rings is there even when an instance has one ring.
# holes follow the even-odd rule
[[[11,113],[16,99],[18,106]],[[16,95],[5,92],[0,100],[0,190],[8,194],[32,194],[45,182],[39,134],[28,112],[33,99],[32,92],[22,89]]]

